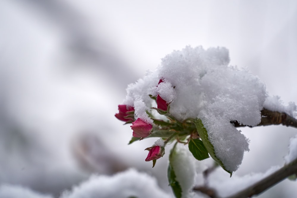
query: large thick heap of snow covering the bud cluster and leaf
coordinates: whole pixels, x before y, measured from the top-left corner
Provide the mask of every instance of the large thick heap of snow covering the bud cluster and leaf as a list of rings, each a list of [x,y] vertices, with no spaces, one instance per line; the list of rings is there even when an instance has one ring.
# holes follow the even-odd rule
[[[183,121],[200,118],[208,131],[217,157],[230,172],[241,164],[249,140],[231,123],[255,126],[266,99],[265,85],[250,72],[228,66],[224,47],[187,46],[162,59],[154,71],[127,88],[123,104],[134,106],[137,118],[150,122],[143,105],[155,107],[151,95],[159,94],[170,104],[170,114]],[[163,82],[158,85],[159,80]],[[141,113],[142,112],[142,113]]]

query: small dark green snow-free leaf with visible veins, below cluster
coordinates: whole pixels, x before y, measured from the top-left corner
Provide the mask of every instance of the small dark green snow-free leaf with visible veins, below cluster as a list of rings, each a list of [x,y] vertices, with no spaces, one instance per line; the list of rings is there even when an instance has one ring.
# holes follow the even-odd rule
[[[191,139],[189,142],[189,150],[198,160],[209,158],[208,151],[203,142],[199,139]]]

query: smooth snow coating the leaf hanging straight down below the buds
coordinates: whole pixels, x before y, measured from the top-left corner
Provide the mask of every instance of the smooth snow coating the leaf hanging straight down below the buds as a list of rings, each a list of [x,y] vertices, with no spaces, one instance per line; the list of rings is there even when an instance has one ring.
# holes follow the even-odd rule
[[[171,165],[175,172],[176,180],[181,186],[182,197],[187,198],[191,196],[190,191],[194,185],[196,159],[185,145],[177,144],[175,149]]]

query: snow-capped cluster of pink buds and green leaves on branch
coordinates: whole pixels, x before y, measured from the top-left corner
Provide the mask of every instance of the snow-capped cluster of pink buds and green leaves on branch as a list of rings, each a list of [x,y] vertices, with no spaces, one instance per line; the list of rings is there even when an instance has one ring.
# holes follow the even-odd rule
[[[266,87],[247,70],[229,66],[229,61],[224,47],[187,46],[166,55],[157,69],[127,87],[116,117],[132,123],[129,143],[160,137],[162,141],[146,149],[146,161],[154,166],[166,144],[176,142],[169,155],[170,184],[176,182],[173,162],[181,153],[178,143],[188,145],[197,160],[211,156],[230,174],[249,151],[248,138],[233,122],[260,123]]]

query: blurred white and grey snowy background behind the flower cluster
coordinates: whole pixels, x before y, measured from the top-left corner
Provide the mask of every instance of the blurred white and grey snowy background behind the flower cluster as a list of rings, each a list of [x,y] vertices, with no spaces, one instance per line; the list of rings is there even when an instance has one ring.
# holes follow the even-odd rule
[[[155,139],[128,146],[132,131],[114,117],[127,84],[173,50],[224,46],[270,95],[297,102],[296,35],[294,0],[2,0],[0,193],[10,185],[59,197],[93,173],[134,167],[170,194],[169,150],[152,169],[144,149]],[[282,166],[297,132],[241,130],[251,142],[237,176]],[[285,180],[259,197],[294,197],[296,186]]]

